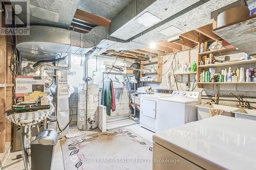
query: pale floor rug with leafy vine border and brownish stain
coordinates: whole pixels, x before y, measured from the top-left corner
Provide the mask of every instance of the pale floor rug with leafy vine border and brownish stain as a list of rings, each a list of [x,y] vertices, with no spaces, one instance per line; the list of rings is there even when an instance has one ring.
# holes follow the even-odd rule
[[[125,128],[60,144],[65,169],[152,169],[153,143]]]

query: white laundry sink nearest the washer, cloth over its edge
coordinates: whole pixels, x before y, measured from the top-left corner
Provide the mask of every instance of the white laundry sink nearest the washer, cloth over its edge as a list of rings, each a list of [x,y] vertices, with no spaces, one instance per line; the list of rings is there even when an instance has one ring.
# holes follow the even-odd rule
[[[217,104],[201,104],[197,105],[197,118],[201,120],[203,118],[208,118],[210,116],[210,108],[215,109],[223,109],[224,112],[222,115],[234,117],[234,113],[232,111],[237,110],[236,107],[217,105]]]

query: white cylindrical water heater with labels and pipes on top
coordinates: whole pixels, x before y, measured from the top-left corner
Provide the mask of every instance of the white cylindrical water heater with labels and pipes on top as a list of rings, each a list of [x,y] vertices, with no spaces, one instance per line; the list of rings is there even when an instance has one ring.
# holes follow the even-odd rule
[[[99,85],[88,82],[78,85],[77,128],[92,130],[98,127]]]

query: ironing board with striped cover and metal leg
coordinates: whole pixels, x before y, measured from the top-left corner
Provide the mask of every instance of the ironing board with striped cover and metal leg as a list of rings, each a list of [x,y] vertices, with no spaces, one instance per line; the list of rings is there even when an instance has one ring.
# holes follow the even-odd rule
[[[45,110],[38,110],[33,112],[14,113],[9,116],[6,116],[7,119],[9,119],[12,123],[23,127],[22,153],[23,153],[25,170],[30,170],[28,152],[27,152],[27,146],[26,146],[28,127],[36,125],[37,123],[41,122],[42,120],[50,116],[53,112],[54,112],[54,109],[45,109]]]

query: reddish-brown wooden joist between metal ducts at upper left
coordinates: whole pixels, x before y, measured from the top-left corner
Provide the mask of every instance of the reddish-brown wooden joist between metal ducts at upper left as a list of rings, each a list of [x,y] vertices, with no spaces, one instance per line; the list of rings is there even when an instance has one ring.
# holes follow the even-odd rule
[[[74,18],[89,22],[96,26],[110,27],[111,20],[80,9],[76,10]]]

